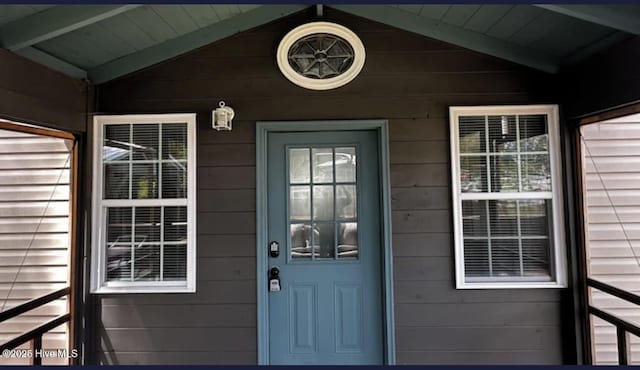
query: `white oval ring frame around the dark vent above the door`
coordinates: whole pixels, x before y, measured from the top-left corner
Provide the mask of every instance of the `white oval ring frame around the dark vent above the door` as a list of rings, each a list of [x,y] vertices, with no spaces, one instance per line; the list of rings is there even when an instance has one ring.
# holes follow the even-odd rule
[[[322,80],[302,76],[291,68],[287,58],[289,49],[300,38],[314,33],[328,33],[347,41],[353,48],[354,54],[351,67],[341,75]],[[277,52],[278,67],[282,74],[294,84],[311,90],[330,90],[348,84],[362,71],[365,57],[364,45],[360,38],[350,29],[331,22],[312,22],[294,28],[282,38]]]

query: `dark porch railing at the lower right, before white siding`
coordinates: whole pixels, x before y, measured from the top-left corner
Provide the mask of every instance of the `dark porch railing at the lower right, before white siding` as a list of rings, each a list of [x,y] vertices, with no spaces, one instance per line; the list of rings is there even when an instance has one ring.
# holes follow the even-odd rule
[[[616,288],[591,278],[587,278],[587,286],[640,306],[640,296],[626,290]],[[587,308],[590,314],[597,316],[616,327],[616,336],[618,338],[618,365],[628,365],[630,349],[627,341],[627,333],[640,337],[640,327],[608,312],[602,311],[599,308],[593,307],[591,304],[589,304]]]

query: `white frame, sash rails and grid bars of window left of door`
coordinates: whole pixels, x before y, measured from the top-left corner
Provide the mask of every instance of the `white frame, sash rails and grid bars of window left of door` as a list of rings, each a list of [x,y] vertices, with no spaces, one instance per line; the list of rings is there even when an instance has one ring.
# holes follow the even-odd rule
[[[195,291],[195,173],[196,173],[196,148],[195,148],[195,135],[196,135],[196,119],[195,114],[158,114],[158,115],[121,115],[121,116],[95,116],[94,117],[94,171],[93,171],[93,197],[92,197],[92,219],[93,219],[93,233],[92,233],[92,273],[91,273],[91,292],[92,293],[179,293],[179,292],[194,292]],[[104,148],[104,130],[107,125],[114,124],[130,124],[131,131],[136,124],[159,124],[160,127],[163,124],[187,124],[187,147],[186,147],[186,160],[180,159],[180,162],[187,167],[187,189],[186,198],[162,198],[158,195],[158,198],[151,199],[103,199],[105,184],[104,184],[104,166],[108,163],[155,163],[158,166],[162,166],[163,163],[173,163],[175,160],[163,159],[161,154],[158,154],[158,158],[154,160],[133,160],[128,158],[127,160],[103,160],[103,148]],[[160,133],[162,129],[160,128]],[[133,138],[133,136],[131,137]],[[160,140],[158,145],[163,146],[165,142],[162,136],[159,136]],[[162,149],[160,149],[162,150]],[[160,152],[161,153],[161,152]],[[133,155],[133,151],[130,152],[130,156]],[[132,174],[130,174],[132,176]],[[161,178],[158,178],[161,181]],[[130,196],[132,194],[130,193]],[[107,210],[115,207],[172,207],[181,206],[187,208],[187,230],[186,230],[186,279],[180,281],[107,281],[106,269],[107,269]],[[132,225],[134,224],[132,220]],[[164,228],[164,224],[161,225]],[[134,243],[132,241],[131,243]],[[150,243],[154,244],[154,243]],[[155,244],[170,245],[172,243],[158,242]],[[182,243],[181,245],[184,245]],[[164,266],[160,265],[161,270]]]

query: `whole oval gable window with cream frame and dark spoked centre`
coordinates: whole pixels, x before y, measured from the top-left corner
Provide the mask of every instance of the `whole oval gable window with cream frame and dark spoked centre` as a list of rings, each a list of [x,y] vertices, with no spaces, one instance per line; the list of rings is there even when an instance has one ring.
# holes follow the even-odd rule
[[[278,67],[291,82],[329,90],[353,80],[364,66],[364,45],[348,28],[330,22],[296,27],[278,46]]]

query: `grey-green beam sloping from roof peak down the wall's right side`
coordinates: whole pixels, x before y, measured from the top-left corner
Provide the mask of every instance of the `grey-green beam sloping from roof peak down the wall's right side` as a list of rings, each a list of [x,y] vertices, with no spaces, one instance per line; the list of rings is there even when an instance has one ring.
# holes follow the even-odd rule
[[[395,7],[387,5],[332,5],[331,7],[545,72],[558,71],[558,61],[551,56]]]

